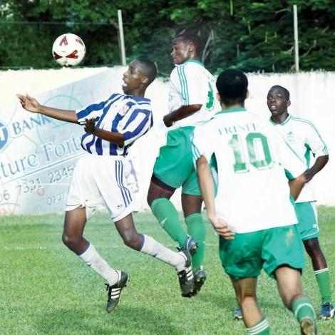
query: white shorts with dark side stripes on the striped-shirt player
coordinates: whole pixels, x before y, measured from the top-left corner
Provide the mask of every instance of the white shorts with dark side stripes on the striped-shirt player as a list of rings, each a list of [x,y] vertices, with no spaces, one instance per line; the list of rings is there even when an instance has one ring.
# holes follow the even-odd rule
[[[133,195],[125,182],[123,156],[86,154],[77,162],[66,200],[66,210],[86,207],[87,219],[105,205],[113,221],[132,212]]]

